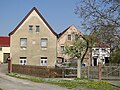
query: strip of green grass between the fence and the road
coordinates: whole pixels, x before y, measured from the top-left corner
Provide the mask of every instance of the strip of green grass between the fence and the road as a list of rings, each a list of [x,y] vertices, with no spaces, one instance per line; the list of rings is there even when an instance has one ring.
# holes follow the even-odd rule
[[[49,83],[49,84],[55,84],[60,85],[62,87],[67,87],[68,89],[72,88],[79,88],[80,90],[120,90],[120,88],[117,88],[115,86],[112,86],[107,81],[90,81],[87,79],[78,79],[75,78],[73,80],[62,80],[62,79],[52,79],[52,78],[37,78],[37,77],[26,77],[19,74],[8,74],[9,76],[16,77],[19,79],[25,79],[30,80],[37,83]],[[81,89],[81,88],[87,88],[87,89]]]

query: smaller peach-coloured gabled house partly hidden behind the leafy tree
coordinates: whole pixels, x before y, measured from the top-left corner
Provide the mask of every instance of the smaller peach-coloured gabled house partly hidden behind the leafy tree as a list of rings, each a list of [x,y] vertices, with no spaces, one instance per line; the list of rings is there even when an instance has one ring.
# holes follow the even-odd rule
[[[57,63],[58,65],[64,62],[69,62],[70,57],[68,55],[64,54],[64,49],[66,45],[73,46],[76,39],[78,39],[79,36],[83,36],[83,34],[74,26],[71,25],[67,29],[65,29],[62,33],[58,35],[58,43],[57,43]],[[80,40],[83,40],[81,37]],[[90,54],[87,53],[85,56],[84,62],[85,65],[90,64]]]

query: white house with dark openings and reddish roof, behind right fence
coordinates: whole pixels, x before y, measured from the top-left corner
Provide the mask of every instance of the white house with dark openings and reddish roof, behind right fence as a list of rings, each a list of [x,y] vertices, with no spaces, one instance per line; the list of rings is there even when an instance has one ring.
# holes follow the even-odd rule
[[[92,66],[97,66],[99,62],[103,65],[109,63],[109,57],[109,46],[101,41],[97,41],[92,48]]]

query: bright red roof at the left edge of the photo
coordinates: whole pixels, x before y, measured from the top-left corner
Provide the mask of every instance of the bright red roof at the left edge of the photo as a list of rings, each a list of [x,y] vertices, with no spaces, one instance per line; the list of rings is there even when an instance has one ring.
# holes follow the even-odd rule
[[[9,47],[10,46],[10,37],[0,36],[0,47]]]

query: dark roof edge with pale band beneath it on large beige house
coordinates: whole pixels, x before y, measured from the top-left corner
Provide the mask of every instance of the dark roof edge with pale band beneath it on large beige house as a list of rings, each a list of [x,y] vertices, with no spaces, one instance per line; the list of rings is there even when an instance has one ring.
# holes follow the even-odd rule
[[[51,28],[51,26],[47,23],[47,21],[43,18],[43,16],[40,14],[40,12],[33,7],[31,11],[24,17],[24,19],[18,24],[18,26],[9,33],[9,36],[14,34],[17,30],[19,30],[29,19],[32,17],[37,17],[48,30],[50,30],[55,36],[57,36],[56,32]]]

